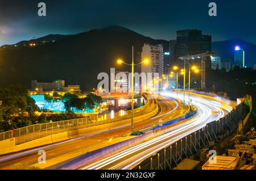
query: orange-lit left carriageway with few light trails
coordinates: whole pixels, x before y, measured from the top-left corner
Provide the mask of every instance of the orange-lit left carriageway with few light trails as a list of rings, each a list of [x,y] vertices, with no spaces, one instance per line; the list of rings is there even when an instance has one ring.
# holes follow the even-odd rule
[[[157,97],[160,111],[155,117],[148,120],[141,120],[134,124],[134,130],[142,130],[154,127],[158,124],[159,119],[169,120],[179,117],[183,112],[182,105],[179,105],[175,100],[168,99],[163,96]],[[47,163],[57,163],[70,159],[77,154],[83,154],[88,151],[102,148],[114,144],[115,142],[123,141],[130,138],[130,124],[119,125],[117,128],[106,129],[98,133],[90,133],[72,140],[62,141],[56,144],[41,146],[40,148],[30,149],[0,157],[0,169],[29,169],[29,166],[38,162],[38,150],[46,151]],[[44,165],[44,164],[40,164]],[[49,166],[48,165],[48,166]],[[41,167],[43,168],[43,167]]]

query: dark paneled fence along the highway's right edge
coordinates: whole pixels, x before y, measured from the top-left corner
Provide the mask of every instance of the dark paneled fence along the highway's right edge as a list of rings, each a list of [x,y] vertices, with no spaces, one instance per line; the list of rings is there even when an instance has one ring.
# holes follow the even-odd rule
[[[158,151],[139,163],[134,170],[166,170],[172,169],[190,155],[199,153],[199,150],[211,142],[218,141],[224,136],[228,136],[234,131],[238,131],[238,124],[250,112],[249,107],[245,103],[239,104],[232,112],[220,120],[208,123],[188,136],[181,138],[166,148]]]

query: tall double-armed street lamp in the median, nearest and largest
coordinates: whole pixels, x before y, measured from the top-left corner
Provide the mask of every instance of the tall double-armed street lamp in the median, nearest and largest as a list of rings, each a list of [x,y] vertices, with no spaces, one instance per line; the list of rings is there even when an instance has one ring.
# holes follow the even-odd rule
[[[118,64],[125,64],[131,66],[131,133],[133,133],[133,119],[134,119],[134,66],[141,64],[148,64],[149,60],[145,59],[139,64],[134,64],[134,49],[131,50],[131,64],[127,64],[122,59],[118,59]]]

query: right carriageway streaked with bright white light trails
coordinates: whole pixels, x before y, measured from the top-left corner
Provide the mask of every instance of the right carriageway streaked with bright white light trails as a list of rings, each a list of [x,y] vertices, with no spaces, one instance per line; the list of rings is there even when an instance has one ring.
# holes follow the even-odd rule
[[[163,96],[179,98],[183,100],[183,94],[176,95],[174,92],[162,92]],[[188,95],[185,95],[185,99],[188,100]],[[191,94],[191,104],[198,108],[198,115],[192,117],[188,121],[181,124],[177,124],[170,129],[168,133],[165,133],[156,138],[152,138],[142,144],[135,145],[129,149],[120,151],[105,158],[101,158],[96,162],[90,163],[82,167],[82,170],[120,170],[120,169],[133,169],[139,165],[144,159],[157,151],[170,146],[180,138],[203,128],[207,123],[224,117],[228,112],[232,110],[232,107],[236,106],[234,102],[228,102],[225,104],[221,102],[220,98],[209,99],[204,95]]]

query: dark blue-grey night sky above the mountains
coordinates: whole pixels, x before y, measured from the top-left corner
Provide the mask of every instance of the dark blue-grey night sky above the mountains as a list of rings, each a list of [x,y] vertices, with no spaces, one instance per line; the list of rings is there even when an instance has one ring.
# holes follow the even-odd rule
[[[38,16],[45,2],[47,16]],[[217,3],[217,17],[208,15]],[[233,38],[256,44],[254,0],[0,0],[0,45],[49,33],[73,34],[118,25],[154,39],[175,39],[176,31],[203,30],[213,41]]]

